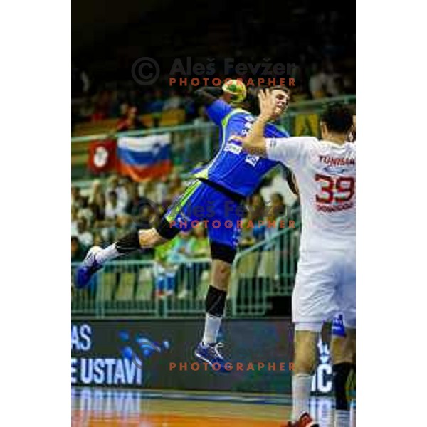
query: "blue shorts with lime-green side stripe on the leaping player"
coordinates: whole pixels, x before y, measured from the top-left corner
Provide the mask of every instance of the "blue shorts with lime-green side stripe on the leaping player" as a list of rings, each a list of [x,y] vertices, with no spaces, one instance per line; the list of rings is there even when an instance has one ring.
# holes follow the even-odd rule
[[[189,231],[198,223],[206,227],[209,241],[236,249],[245,214],[243,204],[202,181],[192,181],[169,206],[164,219],[170,228]]]

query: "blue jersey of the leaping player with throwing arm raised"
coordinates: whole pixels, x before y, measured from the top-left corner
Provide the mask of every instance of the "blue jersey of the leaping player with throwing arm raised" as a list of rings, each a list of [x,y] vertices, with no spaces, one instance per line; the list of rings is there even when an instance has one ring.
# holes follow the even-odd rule
[[[255,116],[246,110],[233,109],[223,100],[213,102],[206,107],[206,112],[219,126],[220,147],[216,157],[197,172],[196,177],[214,181],[241,196],[250,196],[257,189],[263,175],[278,164],[244,152],[242,143],[232,138],[232,135],[247,135],[255,122]],[[285,138],[289,134],[268,123],[264,136]]]

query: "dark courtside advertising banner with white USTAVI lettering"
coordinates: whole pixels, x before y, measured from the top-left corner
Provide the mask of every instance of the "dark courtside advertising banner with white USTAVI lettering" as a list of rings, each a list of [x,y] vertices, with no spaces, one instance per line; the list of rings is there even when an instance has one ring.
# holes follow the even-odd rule
[[[226,320],[221,349],[229,371],[194,357],[203,319],[75,320],[71,325],[73,386],[289,394],[293,337],[288,319]],[[312,391],[332,390],[327,344],[318,343]]]

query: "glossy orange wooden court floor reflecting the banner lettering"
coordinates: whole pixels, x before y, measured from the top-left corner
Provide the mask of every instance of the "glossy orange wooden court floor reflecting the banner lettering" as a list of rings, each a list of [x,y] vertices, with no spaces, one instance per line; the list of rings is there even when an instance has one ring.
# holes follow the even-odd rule
[[[333,425],[331,399],[312,399],[310,412],[321,427]],[[289,396],[72,390],[73,427],[280,427],[289,416]]]

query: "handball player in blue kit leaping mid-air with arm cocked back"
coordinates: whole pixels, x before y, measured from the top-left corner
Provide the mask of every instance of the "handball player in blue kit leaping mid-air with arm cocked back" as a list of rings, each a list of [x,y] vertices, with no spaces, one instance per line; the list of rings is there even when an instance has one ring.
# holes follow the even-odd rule
[[[284,87],[270,88],[275,97],[277,120],[288,107],[289,94]],[[263,176],[278,165],[262,157],[243,152],[242,143],[232,135],[246,136],[258,115],[256,95],[248,96],[251,107],[233,108],[222,99],[221,88],[201,88],[194,93],[196,101],[206,107],[209,118],[220,129],[220,147],[216,157],[194,174],[186,191],[169,207],[156,227],[127,234],[107,248],[94,246],[76,273],[77,288],[85,288],[90,278],[107,261],[127,253],[153,248],[174,238],[180,231],[188,231],[204,221],[211,246],[211,285],[206,295],[204,335],[194,354],[211,366],[215,363],[226,371],[226,360],[218,351],[218,331],[226,307],[231,264],[236,256],[239,223],[245,214],[243,201],[258,188]],[[225,94],[226,96],[229,94]],[[265,137],[289,137],[273,123],[265,127]]]

